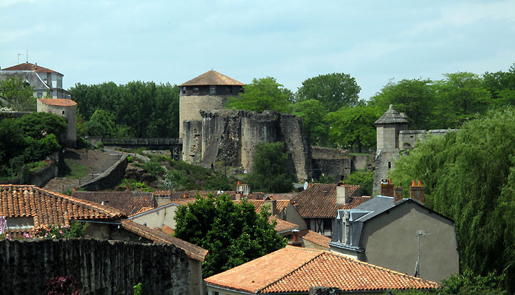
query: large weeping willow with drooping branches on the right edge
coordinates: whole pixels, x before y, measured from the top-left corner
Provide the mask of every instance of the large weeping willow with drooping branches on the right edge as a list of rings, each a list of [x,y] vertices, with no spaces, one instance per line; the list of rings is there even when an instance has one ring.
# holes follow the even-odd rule
[[[457,132],[429,138],[391,171],[409,187],[422,180],[426,204],[455,220],[461,269],[498,270],[515,288],[515,108],[491,110]]]

